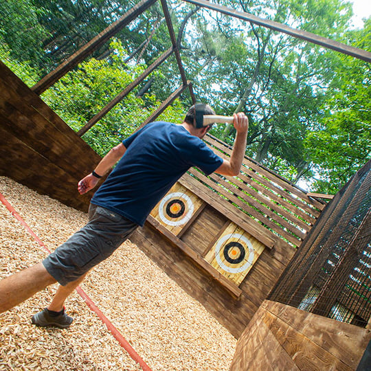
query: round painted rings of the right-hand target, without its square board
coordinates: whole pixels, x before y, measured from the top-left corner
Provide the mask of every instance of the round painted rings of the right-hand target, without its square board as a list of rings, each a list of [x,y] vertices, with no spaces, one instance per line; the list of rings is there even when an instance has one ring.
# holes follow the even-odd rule
[[[218,265],[229,273],[245,271],[254,261],[254,247],[246,236],[226,234],[215,247],[215,258]],[[229,265],[225,263],[228,262]]]

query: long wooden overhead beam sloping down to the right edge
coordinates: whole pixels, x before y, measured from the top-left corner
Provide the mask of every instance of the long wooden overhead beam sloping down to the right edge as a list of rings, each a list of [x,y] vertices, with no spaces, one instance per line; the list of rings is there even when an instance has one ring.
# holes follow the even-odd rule
[[[302,40],[309,41],[310,43],[313,44],[321,45],[328,49],[336,50],[337,52],[347,54],[348,56],[353,56],[355,58],[365,60],[366,62],[371,62],[370,52],[366,52],[366,50],[363,49],[358,49],[357,47],[352,47],[343,43],[339,43],[338,41],[333,41],[330,38],[318,36],[316,34],[312,34],[311,32],[295,30],[295,28],[291,28],[282,23],[270,21],[267,19],[261,19],[258,16],[254,16],[253,14],[239,12],[238,10],[230,9],[227,8],[226,6],[211,3],[206,0],[183,0],[183,1],[193,3],[195,5],[200,5],[212,10],[216,10],[216,12],[221,12],[229,16],[234,16],[238,19],[243,19],[243,21],[255,23],[256,25],[267,27],[274,31],[283,32],[284,34],[288,34],[296,38],[301,38]]]

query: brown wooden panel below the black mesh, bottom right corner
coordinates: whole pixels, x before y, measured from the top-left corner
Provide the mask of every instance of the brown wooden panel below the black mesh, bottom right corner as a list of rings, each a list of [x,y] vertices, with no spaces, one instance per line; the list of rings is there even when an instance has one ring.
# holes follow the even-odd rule
[[[371,331],[265,300],[238,339],[230,371],[356,370]]]

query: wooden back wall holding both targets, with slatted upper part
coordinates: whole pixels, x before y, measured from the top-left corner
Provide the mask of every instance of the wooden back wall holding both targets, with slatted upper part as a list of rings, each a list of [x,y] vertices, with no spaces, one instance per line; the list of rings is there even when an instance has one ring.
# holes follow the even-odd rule
[[[218,139],[205,141],[229,157],[230,148]],[[166,221],[166,205],[177,205],[182,196],[183,216]],[[192,213],[179,225],[190,202]],[[131,240],[238,338],[324,206],[245,158],[238,177],[205,177],[190,169]],[[236,248],[228,250],[231,243]],[[245,258],[234,264],[232,256],[225,259],[229,252]]]

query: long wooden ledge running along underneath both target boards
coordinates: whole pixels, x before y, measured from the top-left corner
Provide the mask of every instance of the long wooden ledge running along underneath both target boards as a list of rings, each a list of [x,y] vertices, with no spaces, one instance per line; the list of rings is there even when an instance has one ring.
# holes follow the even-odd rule
[[[182,240],[177,238],[174,234],[168,231],[166,227],[161,225],[153,216],[148,216],[147,218],[148,223],[153,225],[161,234],[164,234],[166,238],[175,243],[179,249],[181,249],[185,254],[187,254],[190,258],[194,260],[198,265],[200,265],[203,269],[209,272],[212,277],[223,284],[225,288],[228,289],[233,295],[239,297],[241,295],[241,290],[238,289],[238,286],[230,282],[227,278],[225,278],[220,272],[214,269],[200,254],[197,254],[196,251],[188,247]]]

